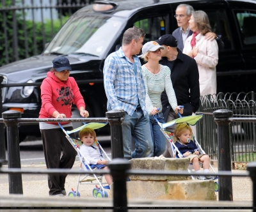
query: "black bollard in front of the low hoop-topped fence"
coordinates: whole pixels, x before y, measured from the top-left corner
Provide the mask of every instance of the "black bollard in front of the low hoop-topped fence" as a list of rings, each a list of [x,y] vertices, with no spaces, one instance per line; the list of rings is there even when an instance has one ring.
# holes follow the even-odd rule
[[[213,116],[217,124],[218,169],[219,171],[231,172],[230,121],[228,118],[232,117],[232,111],[225,109],[215,110]],[[233,201],[231,176],[219,177],[219,201]]]

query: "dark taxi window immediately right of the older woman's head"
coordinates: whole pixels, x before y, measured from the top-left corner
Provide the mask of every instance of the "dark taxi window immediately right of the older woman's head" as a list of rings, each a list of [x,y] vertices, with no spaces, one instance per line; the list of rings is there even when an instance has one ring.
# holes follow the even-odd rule
[[[232,42],[230,36],[230,24],[228,24],[227,13],[225,10],[206,11],[212,31],[221,35],[225,47],[224,49],[232,49]]]

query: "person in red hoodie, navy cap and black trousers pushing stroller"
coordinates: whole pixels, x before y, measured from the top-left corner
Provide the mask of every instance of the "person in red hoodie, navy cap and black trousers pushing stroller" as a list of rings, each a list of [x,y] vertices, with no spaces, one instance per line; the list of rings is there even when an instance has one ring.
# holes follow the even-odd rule
[[[52,61],[53,68],[41,85],[42,107],[40,118],[71,117],[72,104],[77,105],[82,117],[88,117],[85,103],[76,81],[70,75],[70,64],[66,57]],[[72,130],[72,123],[61,123],[65,130]],[[76,159],[76,150],[65,137],[58,123],[40,123],[44,156],[47,169],[71,169]],[[61,149],[63,154],[61,156]],[[48,174],[49,195],[66,195],[67,174]]]

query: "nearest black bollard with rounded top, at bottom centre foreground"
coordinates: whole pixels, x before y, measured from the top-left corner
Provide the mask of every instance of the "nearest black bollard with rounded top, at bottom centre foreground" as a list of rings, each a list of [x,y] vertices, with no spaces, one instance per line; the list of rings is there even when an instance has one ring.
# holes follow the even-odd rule
[[[131,169],[131,162],[124,158],[115,158],[109,162],[108,167],[113,178],[113,207],[114,212],[120,211],[118,207],[127,207],[127,188],[125,171]],[[122,209],[126,212],[127,209]]]

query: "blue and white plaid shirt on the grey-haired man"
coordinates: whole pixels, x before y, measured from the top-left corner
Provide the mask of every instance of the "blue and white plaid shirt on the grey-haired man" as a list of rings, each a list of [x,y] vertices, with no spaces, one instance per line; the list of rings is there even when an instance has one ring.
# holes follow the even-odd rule
[[[133,63],[125,56],[122,47],[109,54],[103,68],[104,88],[108,98],[108,110],[124,110],[132,116],[137,105],[140,104],[144,115],[146,90],[141,72],[140,59],[132,56],[136,65],[134,73]]]

